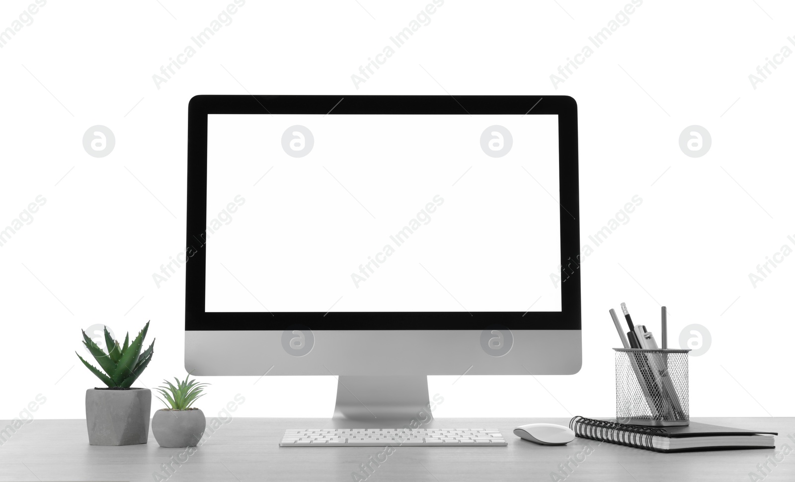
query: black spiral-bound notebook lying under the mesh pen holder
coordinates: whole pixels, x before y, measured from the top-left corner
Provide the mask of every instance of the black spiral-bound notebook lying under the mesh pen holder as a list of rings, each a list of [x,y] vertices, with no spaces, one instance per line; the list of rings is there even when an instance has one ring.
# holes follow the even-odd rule
[[[624,425],[609,420],[575,417],[568,422],[577,437],[625,445],[655,452],[692,450],[775,449],[777,432],[731,429],[690,422],[682,427]]]

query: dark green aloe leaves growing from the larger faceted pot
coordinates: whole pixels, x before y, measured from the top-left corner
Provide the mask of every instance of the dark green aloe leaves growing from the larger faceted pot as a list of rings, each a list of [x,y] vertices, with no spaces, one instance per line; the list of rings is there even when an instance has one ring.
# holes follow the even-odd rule
[[[75,353],[77,357],[80,358],[80,361],[83,362],[83,365],[91,370],[91,373],[97,375],[97,378],[102,380],[108,387],[130,388],[152,360],[154,340],[152,340],[152,344],[149,345],[149,348],[146,348],[143,353],[141,352],[148,329],[149,321],[147,321],[144,328],[138,332],[138,336],[135,337],[132,344],[130,344],[130,333],[128,332],[124,337],[124,345],[119,345],[118,341],[111,338],[111,334],[107,332],[107,327],[105,327],[105,344],[108,347],[107,353],[103,352],[103,349],[99,348],[99,346],[94,343],[94,340],[91,340],[85,330],[81,330],[83,331],[83,344],[86,345],[88,352],[97,360],[99,367],[102,367],[103,371],[105,371],[104,373],[99,371],[97,367],[91,365],[91,363],[83,360],[80,353]]]

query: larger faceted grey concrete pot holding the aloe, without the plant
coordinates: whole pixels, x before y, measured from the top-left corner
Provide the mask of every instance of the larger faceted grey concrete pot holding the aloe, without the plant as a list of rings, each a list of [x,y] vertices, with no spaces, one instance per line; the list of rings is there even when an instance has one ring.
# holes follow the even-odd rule
[[[149,438],[152,392],[147,388],[86,391],[86,424],[91,445],[145,444]]]

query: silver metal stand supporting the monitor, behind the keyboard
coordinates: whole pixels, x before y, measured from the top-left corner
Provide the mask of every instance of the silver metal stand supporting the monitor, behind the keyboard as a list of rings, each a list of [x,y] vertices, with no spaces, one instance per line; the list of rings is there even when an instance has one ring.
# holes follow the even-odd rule
[[[426,375],[339,375],[332,424],[339,428],[433,426]]]

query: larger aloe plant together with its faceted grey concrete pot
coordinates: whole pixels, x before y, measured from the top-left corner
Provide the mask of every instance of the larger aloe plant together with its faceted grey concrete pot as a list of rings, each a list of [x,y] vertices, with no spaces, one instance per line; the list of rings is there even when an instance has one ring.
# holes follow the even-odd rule
[[[154,340],[149,348],[141,352],[148,329],[149,321],[131,344],[128,332],[124,344],[119,345],[105,328],[107,353],[103,352],[102,348],[99,348],[83,331],[83,344],[99,363],[102,371],[83,360],[83,357],[76,352],[77,357],[91,370],[91,373],[107,385],[104,388],[91,388],[86,391],[89,444],[145,444],[149,438],[152,392],[146,388],[132,387],[152,360]]]

